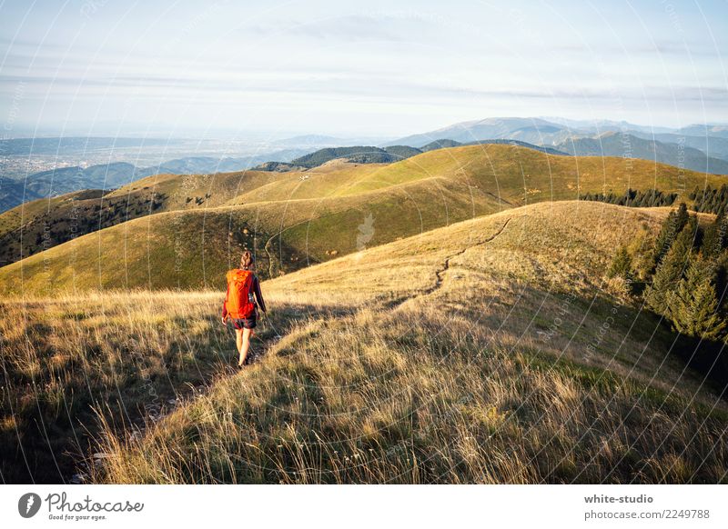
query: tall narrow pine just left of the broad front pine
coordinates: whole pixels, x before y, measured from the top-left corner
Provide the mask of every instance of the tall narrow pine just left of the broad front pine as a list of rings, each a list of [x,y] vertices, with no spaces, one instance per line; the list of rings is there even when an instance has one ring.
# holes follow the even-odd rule
[[[667,295],[677,287],[682,279],[693,249],[696,229],[697,219],[692,217],[675,238],[670,250],[657,266],[652,284],[645,290],[644,300],[657,314],[665,314],[668,303]]]

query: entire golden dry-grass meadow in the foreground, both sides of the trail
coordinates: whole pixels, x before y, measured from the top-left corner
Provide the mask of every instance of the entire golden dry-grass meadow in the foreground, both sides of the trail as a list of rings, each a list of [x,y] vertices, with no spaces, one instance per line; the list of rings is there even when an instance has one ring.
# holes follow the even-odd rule
[[[723,388],[605,275],[667,211],[509,208],[268,280],[242,372],[222,286],[7,298],[3,478],[725,483]]]

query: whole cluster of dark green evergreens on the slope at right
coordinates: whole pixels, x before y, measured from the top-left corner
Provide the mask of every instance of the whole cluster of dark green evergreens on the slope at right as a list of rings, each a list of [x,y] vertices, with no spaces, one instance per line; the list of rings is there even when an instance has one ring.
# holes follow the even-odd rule
[[[674,331],[728,342],[728,219],[723,210],[703,228],[681,204],[648,250],[632,255],[626,246],[619,247],[608,275],[622,277],[628,285],[644,284],[645,304],[669,320]],[[712,351],[724,363],[721,349]]]

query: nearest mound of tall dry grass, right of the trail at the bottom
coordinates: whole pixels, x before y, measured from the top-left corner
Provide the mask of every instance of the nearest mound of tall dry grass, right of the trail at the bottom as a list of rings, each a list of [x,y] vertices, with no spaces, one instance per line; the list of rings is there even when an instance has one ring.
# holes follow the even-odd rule
[[[373,333],[373,327],[381,331]],[[652,390],[654,391],[654,390]],[[141,440],[113,483],[629,483],[724,479],[724,415],[492,344],[465,320],[314,320]]]

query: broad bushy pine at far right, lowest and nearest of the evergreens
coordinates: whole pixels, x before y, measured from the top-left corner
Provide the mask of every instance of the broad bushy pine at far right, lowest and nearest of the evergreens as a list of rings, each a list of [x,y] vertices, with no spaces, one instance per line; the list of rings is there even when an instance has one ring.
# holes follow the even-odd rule
[[[713,264],[693,258],[677,289],[667,294],[667,317],[681,334],[718,340],[725,321],[718,314],[718,300],[713,286]]]

